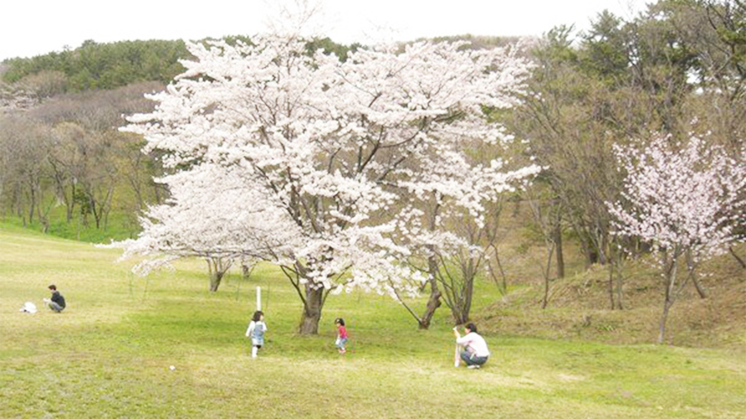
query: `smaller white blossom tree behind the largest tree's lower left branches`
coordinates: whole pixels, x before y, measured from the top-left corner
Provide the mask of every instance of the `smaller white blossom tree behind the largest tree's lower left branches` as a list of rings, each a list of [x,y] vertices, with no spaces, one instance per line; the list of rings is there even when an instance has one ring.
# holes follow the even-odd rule
[[[170,268],[176,259],[204,258],[210,268],[210,291],[216,292],[233,262],[254,265],[263,252],[287,239],[283,232],[270,235],[266,230],[277,214],[262,205],[241,207],[246,201],[260,203],[262,196],[245,187],[237,170],[201,164],[157,179],[169,186],[171,196],[140,218],[139,238],[100,247],[124,249],[120,260],[145,256],[133,268],[141,275]]]

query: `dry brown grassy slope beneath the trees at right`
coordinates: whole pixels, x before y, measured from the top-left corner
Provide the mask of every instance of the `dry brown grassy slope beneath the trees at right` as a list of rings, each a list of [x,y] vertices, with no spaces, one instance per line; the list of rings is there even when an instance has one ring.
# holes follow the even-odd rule
[[[746,253],[746,245],[736,250]],[[624,310],[609,310],[609,272],[601,265],[552,280],[548,308],[542,310],[538,257],[518,255],[511,260],[515,286],[510,294],[477,313],[491,330],[618,344],[656,341],[664,289],[649,261],[625,263]],[[692,283],[687,284],[668,315],[666,342],[746,353],[746,271],[726,254],[700,267],[700,283],[707,297],[700,298]]]

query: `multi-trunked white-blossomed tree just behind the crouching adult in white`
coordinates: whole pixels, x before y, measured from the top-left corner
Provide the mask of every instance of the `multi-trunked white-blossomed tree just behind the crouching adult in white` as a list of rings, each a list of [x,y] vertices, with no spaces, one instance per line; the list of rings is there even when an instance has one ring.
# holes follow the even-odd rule
[[[410,188],[410,200],[401,212],[397,239],[412,252],[410,265],[427,272],[430,300],[422,315],[399,300],[421,329],[429,327],[441,299],[454,322],[466,324],[474,280],[486,269],[490,248],[497,241],[501,198],[542,170],[536,165],[510,170],[509,162],[501,159],[483,165],[466,154],[448,158],[447,176],[443,166],[424,164],[420,175],[427,182],[401,183]]]

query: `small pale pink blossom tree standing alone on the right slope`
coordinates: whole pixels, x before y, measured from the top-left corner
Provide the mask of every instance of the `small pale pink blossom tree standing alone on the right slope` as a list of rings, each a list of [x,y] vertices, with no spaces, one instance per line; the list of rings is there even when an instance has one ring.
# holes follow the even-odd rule
[[[665,338],[668,312],[700,262],[727,251],[746,205],[745,155],[728,157],[723,148],[697,136],[686,144],[654,136],[644,147],[616,146],[627,172],[623,201],[606,203],[616,218],[616,234],[639,238],[659,253],[665,286],[658,342]],[[686,264],[687,275],[678,274]]]

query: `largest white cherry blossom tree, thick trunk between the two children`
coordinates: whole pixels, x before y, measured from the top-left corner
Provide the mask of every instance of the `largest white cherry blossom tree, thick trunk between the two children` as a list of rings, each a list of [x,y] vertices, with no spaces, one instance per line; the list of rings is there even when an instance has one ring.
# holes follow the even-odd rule
[[[307,45],[283,34],[189,45],[186,72],[124,128],[175,171],[162,179],[172,200],[150,209],[125,256],[202,248],[273,262],[303,302],[302,334],[317,333],[330,292],[417,291],[426,275],[402,262],[412,251],[397,239],[415,234],[402,228],[407,203],[448,190],[479,216],[479,194],[507,180],[497,163],[474,165],[464,145],[506,138],[485,110],[512,106],[529,66],[515,48],[459,42],[345,60]]]

